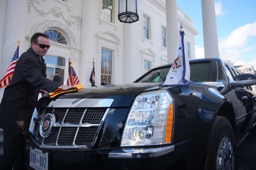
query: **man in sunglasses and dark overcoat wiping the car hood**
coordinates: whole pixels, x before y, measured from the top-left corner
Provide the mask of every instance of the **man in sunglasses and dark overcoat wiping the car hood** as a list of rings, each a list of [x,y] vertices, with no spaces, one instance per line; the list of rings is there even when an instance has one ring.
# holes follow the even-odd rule
[[[24,131],[28,131],[39,92],[47,94],[64,86],[46,79],[44,56],[50,48],[47,35],[35,33],[30,48],[17,61],[10,84],[4,89],[0,104],[0,128],[4,129],[4,154],[1,170],[27,169]]]

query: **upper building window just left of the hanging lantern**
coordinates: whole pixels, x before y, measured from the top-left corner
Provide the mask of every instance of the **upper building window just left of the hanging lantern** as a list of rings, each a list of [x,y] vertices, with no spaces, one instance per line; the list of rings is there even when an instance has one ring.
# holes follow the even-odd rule
[[[102,0],[102,19],[113,22],[113,0]]]

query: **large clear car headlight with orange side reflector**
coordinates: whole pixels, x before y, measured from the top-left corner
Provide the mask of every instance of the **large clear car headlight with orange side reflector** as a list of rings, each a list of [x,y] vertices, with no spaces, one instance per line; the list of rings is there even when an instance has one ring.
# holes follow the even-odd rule
[[[121,146],[171,143],[173,131],[172,97],[166,90],[141,93],[129,112]]]

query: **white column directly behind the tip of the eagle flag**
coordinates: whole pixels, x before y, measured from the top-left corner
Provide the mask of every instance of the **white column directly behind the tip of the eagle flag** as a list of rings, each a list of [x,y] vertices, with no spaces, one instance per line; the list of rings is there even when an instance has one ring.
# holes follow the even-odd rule
[[[179,40],[176,0],[166,0],[166,34],[167,59],[168,63],[172,63]]]

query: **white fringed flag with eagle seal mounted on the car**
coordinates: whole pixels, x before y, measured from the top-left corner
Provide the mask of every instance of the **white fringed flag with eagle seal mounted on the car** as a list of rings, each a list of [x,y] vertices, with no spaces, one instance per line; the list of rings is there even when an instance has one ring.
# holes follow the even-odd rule
[[[184,31],[180,30],[180,39],[175,52],[174,62],[161,86],[176,86],[180,89],[188,89],[190,78],[190,67],[187,47],[184,42]]]

